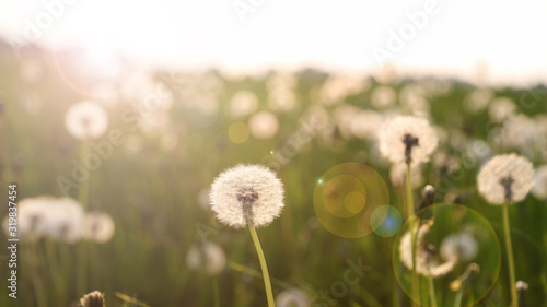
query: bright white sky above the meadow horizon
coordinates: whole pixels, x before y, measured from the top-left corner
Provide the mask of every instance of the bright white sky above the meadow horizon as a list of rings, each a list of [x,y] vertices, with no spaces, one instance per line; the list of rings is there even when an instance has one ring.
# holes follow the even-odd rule
[[[248,71],[313,66],[368,73],[382,67],[383,55],[400,71],[468,78],[485,62],[489,80],[504,84],[547,82],[546,28],[544,0],[0,3],[4,38],[31,37],[48,48],[80,44],[144,64]]]

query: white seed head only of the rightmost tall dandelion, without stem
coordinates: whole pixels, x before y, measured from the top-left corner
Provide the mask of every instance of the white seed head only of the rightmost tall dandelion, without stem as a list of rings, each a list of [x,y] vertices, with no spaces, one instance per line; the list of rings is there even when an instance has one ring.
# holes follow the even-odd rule
[[[480,169],[477,186],[490,204],[519,202],[534,186],[534,166],[514,153],[497,155]]]

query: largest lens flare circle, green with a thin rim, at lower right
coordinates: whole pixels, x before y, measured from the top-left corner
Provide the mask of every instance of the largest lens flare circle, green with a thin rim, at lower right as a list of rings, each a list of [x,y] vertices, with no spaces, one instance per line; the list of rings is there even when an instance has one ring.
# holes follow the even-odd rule
[[[435,204],[409,221],[415,221],[416,275],[412,278],[409,222],[395,239],[393,265],[397,282],[410,298],[431,306],[429,279],[437,306],[454,306],[458,295],[461,306],[474,306],[490,292],[500,272],[501,252],[485,217],[465,205]]]

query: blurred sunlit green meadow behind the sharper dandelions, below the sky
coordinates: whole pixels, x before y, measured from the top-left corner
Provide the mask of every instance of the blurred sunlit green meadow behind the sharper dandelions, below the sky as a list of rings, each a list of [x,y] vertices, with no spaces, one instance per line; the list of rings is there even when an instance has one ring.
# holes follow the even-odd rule
[[[379,149],[384,122],[404,115],[427,118],[438,139],[411,170],[410,199],[423,208],[416,216],[435,216],[423,226],[428,243],[439,250],[465,228],[478,248],[474,259],[431,280],[437,305],[511,304],[502,210],[478,192],[477,175],[493,156],[516,153],[537,173],[532,191],[509,205],[515,275],[527,285],[520,306],[547,306],[545,85],[496,87],[391,70],[235,75],[128,66],[96,76],[70,59],[0,58],[1,216],[9,213],[9,185],[16,185],[20,203],[69,197],[84,211],[108,214],[115,232],[101,243],[33,237],[33,229],[23,236],[20,221],[18,298],[9,297],[3,249],[1,306],[78,306],[95,290],[106,306],[266,306],[248,231],[220,223],[210,208],[214,178],[238,164],[267,166],[284,187],[280,216],[257,228],[278,306],[412,306],[410,296],[433,306],[426,280],[412,290],[411,270],[399,259],[411,227],[407,169],[393,167]],[[74,138],[66,125],[70,107],[83,101],[107,114],[105,132],[93,139]],[[369,212],[359,215],[362,232],[318,214],[333,213],[322,193],[345,174],[370,182],[369,203],[345,198],[358,189],[348,184],[353,179],[335,185],[344,196],[329,201],[356,205],[349,220]],[[432,200],[422,194],[427,185]],[[371,203],[374,197],[380,202]],[[389,206],[373,223],[370,210],[380,205]],[[0,239],[7,243],[8,233]],[[479,271],[462,276],[470,263]],[[451,290],[458,279],[466,287]]]

